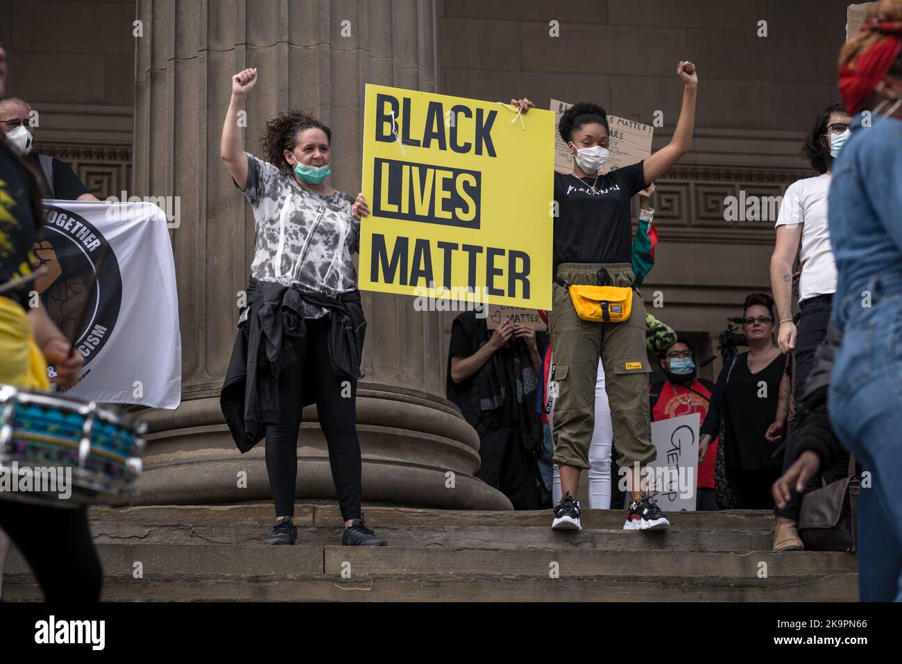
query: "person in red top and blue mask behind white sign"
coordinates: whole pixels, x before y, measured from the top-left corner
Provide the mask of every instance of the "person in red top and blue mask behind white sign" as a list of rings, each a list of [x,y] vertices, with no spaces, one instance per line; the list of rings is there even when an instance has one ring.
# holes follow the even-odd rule
[[[669,420],[697,412],[700,422],[708,414],[714,383],[695,376],[692,348],[683,337],[658,355],[658,362],[667,380],[649,385],[651,421]],[[717,459],[717,438],[708,446],[709,454],[699,459],[695,509],[719,510],[714,497],[714,463]]]

